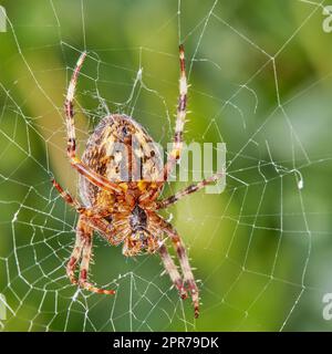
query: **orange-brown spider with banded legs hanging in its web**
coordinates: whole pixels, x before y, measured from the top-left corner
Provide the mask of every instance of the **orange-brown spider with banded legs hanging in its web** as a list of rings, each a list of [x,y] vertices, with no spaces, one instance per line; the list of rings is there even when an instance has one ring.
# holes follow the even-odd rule
[[[165,165],[160,153],[151,147],[154,140],[146,131],[134,118],[124,114],[105,116],[90,136],[82,159],[77,157],[73,101],[77,76],[86,55],[86,52],[82,52],[76,62],[64,103],[68,133],[66,153],[71,166],[80,174],[79,190],[83,204],[66,192],[55,179],[52,179],[53,186],[62,198],[79,214],[76,239],[66,264],[66,274],[73,284],[82,289],[100,294],[115,293],[114,290],[100,289],[87,281],[92,258],[92,238],[93,232],[97,231],[110,244],[122,243],[123,254],[126,257],[137,256],[143,251],[158,253],[180,298],[186,299],[188,292],[190,293],[194,314],[195,317],[198,317],[199,292],[186,248],[176,229],[157,214],[158,210],[167,208],[186,195],[221,177],[221,173],[217,173],[174,196],[160,199],[165,181],[178,163],[183,149],[188,87],[184,46],[179,46],[180,79],[176,128],[173,147]],[[139,144],[133,149],[133,153],[134,138]],[[118,174],[121,158],[114,152],[115,143],[120,142],[128,148],[128,154],[136,154],[142,158],[141,169],[143,168],[149,178],[133,180],[129,177],[126,181],[121,179]],[[127,169],[129,176],[137,169],[134,159],[128,160]],[[183,277],[167,250],[165,235],[175,248]],[[76,278],[75,269],[79,262],[80,271]]]

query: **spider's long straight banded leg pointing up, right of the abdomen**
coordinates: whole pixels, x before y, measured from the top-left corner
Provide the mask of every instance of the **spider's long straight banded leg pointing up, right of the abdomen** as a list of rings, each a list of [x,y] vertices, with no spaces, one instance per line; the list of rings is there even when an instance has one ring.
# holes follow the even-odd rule
[[[179,79],[179,97],[176,115],[175,135],[173,142],[173,148],[168,155],[167,162],[164,166],[163,176],[160,180],[167,180],[169,174],[174,169],[177,160],[180,158],[180,154],[184,145],[184,126],[186,122],[187,113],[187,76],[185,66],[185,50],[184,45],[179,46],[179,63],[180,63],[180,79]]]

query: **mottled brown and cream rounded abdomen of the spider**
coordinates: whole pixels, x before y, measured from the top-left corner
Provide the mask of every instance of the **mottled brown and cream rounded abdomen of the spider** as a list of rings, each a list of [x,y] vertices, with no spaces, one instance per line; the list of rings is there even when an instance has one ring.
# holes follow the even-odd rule
[[[108,180],[126,184],[126,189],[138,196],[148,190],[163,170],[163,158],[153,138],[133,118],[120,114],[100,122],[87,140],[82,160]],[[114,202],[112,194],[84,176],[80,177],[80,191],[85,205]]]

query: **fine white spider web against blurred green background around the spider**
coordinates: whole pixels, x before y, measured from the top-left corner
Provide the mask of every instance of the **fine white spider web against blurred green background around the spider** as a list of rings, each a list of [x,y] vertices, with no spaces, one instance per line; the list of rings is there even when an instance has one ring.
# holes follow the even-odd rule
[[[324,1],[3,2],[0,33],[0,292],[6,331],[326,330],[331,292],[330,37]],[[148,19],[148,21],[147,21]],[[331,35],[331,34],[330,34]],[[186,45],[187,142],[227,144],[227,188],[165,211],[185,240],[201,295],[170,287],[157,257],[124,259],[94,238],[90,279],[65,275],[77,217],[63,100],[76,59],[79,147],[108,112],[172,139],[177,44]],[[331,46],[331,45],[330,45]],[[172,183],[164,195],[187,184]]]

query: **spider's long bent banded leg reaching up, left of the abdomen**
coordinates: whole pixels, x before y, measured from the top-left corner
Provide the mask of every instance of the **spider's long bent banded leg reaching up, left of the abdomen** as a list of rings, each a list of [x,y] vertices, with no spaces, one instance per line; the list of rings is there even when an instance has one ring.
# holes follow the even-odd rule
[[[103,176],[100,176],[92,168],[86,166],[79,157],[76,157],[76,136],[75,136],[73,100],[74,100],[77,77],[79,77],[85,56],[86,56],[86,52],[83,52],[77,60],[70,85],[68,87],[66,98],[64,102],[64,111],[65,111],[65,117],[66,117],[66,132],[68,132],[66,153],[70,158],[72,167],[75,168],[86,179],[89,179],[90,183],[105,190],[121,194],[123,192],[123,189],[118,187],[118,185],[107,180]]]

